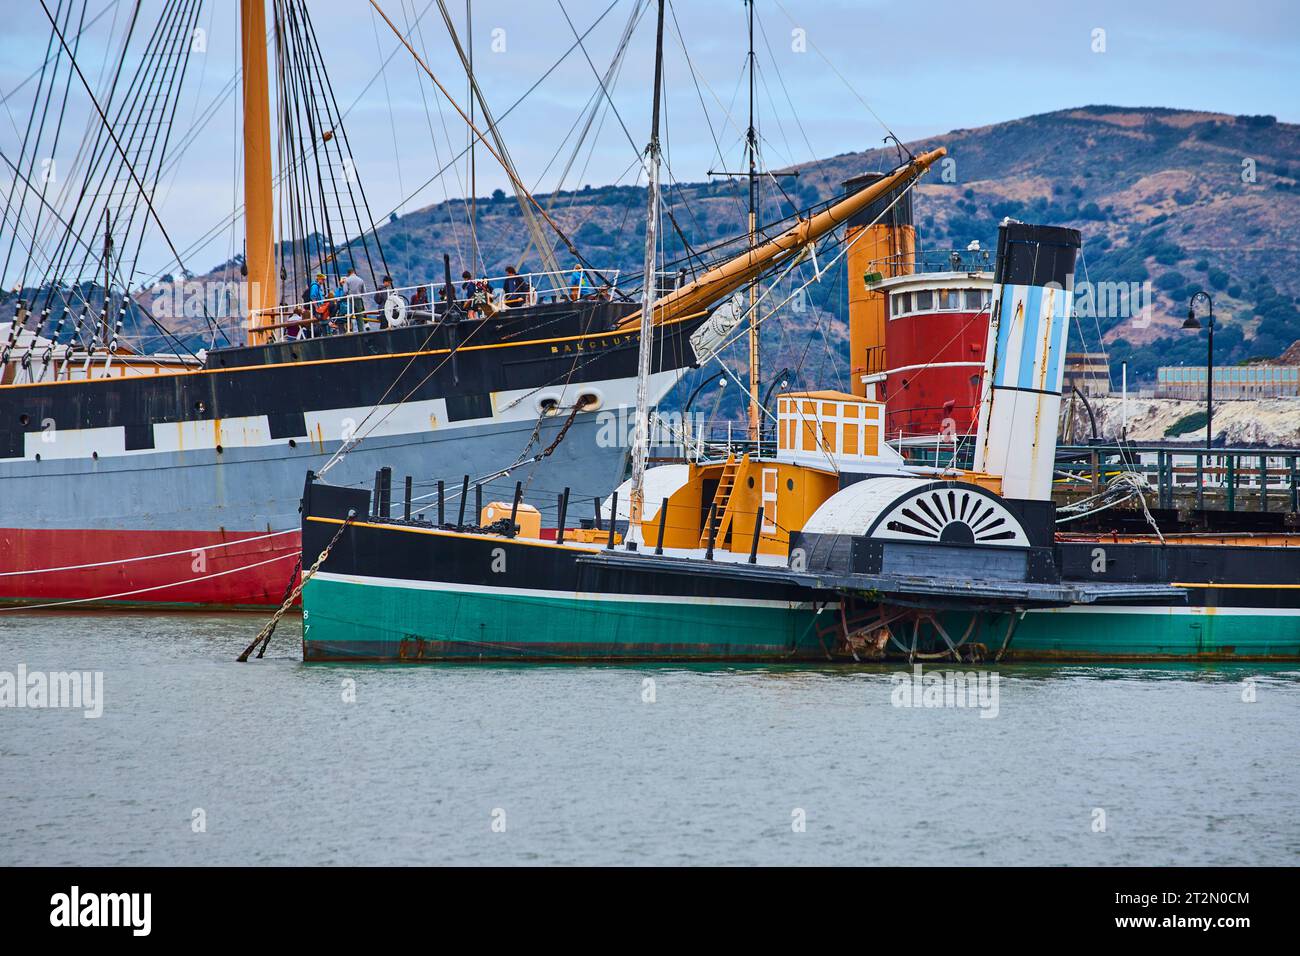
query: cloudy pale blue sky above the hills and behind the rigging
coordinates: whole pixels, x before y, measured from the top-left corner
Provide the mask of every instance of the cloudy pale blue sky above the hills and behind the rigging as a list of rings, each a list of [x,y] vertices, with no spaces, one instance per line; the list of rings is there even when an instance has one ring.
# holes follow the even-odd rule
[[[65,0],[65,3],[69,0]],[[82,0],[78,0],[78,5]],[[56,0],[46,0],[53,10]],[[647,0],[474,0],[474,65],[489,105],[503,113],[573,43],[566,14],[584,42],[502,122],[523,177],[555,187],[575,120],[595,91],[633,5],[644,13],[612,90],[621,117],[606,114],[594,148],[584,151],[567,186],[630,182],[636,150],[649,126],[654,10]],[[87,0],[88,17],[114,4]],[[82,42],[78,59],[94,83],[121,35],[129,3],[116,4]],[[146,0],[142,23],[161,3]],[[268,4],[269,7],[269,4]],[[465,78],[429,0],[381,0],[452,96],[467,104]],[[196,53],[182,94],[178,126],[217,96],[238,70],[238,4],[207,0],[200,16],[205,52]],[[464,125],[410,53],[364,0],[309,5],[335,95],[350,108],[347,131],[376,216],[463,195],[464,164],[417,191],[465,144]],[[465,3],[450,0],[458,30]],[[914,139],[1086,104],[1175,107],[1225,113],[1273,113],[1300,120],[1300,27],[1287,3],[867,3],[757,0],[757,112],[770,166],[879,146],[884,126]],[[603,18],[602,18],[603,14]],[[49,23],[40,4],[8,4],[0,35],[0,150],[18,155]],[[116,33],[113,33],[116,16]],[[419,29],[412,23],[419,21]],[[1104,31],[1104,34],[1098,33]],[[685,47],[685,52],[684,52]],[[676,178],[738,168],[746,118],[745,7],[741,0],[675,0],[666,30],[668,160]],[[689,61],[688,56],[689,53]],[[70,163],[87,121],[73,81],[65,146]],[[159,208],[185,246],[239,202],[235,170],[238,96],[228,100],[164,183]],[[441,114],[439,114],[441,107]],[[707,122],[706,122],[707,113]],[[624,133],[625,124],[628,134]],[[432,130],[432,133],[430,133]],[[630,137],[630,143],[629,143]],[[716,137],[716,144],[715,144]],[[719,147],[722,156],[719,156]],[[552,161],[559,151],[562,159]],[[478,194],[506,185],[480,155]],[[630,170],[630,172],[629,172]],[[0,164],[0,185],[8,181]],[[242,226],[239,228],[242,234]],[[199,271],[222,260],[226,230],[194,255]],[[235,248],[238,248],[235,246]]]

